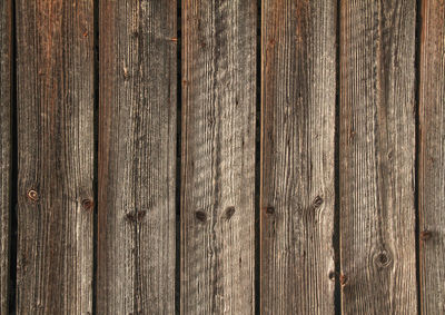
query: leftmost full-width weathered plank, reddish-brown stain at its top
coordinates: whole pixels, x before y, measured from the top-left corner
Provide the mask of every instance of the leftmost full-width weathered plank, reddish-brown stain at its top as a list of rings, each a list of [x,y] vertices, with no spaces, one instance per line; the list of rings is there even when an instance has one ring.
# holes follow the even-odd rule
[[[91,313],[92,2],[17,1],[17,314]]]

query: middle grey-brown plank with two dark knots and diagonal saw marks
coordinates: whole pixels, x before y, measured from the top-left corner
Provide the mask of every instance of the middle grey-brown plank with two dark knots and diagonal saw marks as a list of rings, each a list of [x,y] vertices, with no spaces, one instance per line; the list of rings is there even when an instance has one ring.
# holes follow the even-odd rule
[[[184,314],[254,313],[256,2],[182,1]]]

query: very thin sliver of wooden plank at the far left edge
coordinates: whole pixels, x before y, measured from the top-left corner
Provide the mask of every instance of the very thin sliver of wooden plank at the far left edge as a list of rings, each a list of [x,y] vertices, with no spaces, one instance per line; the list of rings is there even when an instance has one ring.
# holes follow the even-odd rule
[[[0,314],[8,314],[11,187],[11,1],[0,1]]]

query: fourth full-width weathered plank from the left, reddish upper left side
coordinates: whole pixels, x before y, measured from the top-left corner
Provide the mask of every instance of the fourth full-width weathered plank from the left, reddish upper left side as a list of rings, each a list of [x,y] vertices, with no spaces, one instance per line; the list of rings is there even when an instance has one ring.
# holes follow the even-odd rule
[[[261,312],[333,314],[336,1],[261,21]]]

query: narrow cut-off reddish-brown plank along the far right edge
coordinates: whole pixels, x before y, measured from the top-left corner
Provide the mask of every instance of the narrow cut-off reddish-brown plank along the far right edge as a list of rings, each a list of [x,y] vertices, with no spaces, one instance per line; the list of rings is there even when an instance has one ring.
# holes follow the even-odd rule
[[[423,314],[445,313],[445,2],[422,9],[419,247]]]

